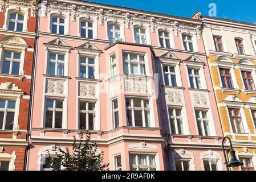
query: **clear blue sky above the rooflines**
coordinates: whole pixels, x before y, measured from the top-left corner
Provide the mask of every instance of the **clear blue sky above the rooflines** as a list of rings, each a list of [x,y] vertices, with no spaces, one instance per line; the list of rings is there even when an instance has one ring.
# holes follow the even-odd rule
[[[209,3],[216,3],[217,17],[256,22],[255,0],[90,0],[108,5],[131,7],[134,9],[154,11],[158,13],[190,17],[196,11],[208,15]]]

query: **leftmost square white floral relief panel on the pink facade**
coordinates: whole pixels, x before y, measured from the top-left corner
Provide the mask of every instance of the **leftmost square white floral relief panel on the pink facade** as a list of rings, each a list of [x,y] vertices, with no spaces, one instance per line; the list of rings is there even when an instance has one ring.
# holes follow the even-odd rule
[[[63,95],[65,92],[64,81],[47,79],[46,93]]]

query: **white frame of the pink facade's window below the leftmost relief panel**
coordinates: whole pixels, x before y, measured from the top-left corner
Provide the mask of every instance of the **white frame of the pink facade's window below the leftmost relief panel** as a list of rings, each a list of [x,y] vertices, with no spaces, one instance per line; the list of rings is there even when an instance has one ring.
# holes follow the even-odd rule
[[[53,100],[54,101],[54,105],[53,107],[47,107],[47,108],[50,108],[50,109],[47,109],[46,108],[46,100]],[[62,101],[62,109],[61,108],[56,108],[56,101]],[[63,99],[60,99],[60,98],[51,98],[51,97],[45,97],[44,99],[44,123],[43,123],[43,128],[44,129],[64,129],[64,98]],[[52,111],[52,127],[51,128],[48,128],[46,127],[46,111],[49,110],[49,111]],[[62,111],[62,127],[61,128],[55,128],[55,112],[56,111]]]

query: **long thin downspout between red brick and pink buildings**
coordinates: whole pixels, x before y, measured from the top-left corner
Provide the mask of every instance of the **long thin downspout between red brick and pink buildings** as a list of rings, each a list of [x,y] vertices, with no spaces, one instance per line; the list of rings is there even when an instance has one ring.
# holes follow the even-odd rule
[[[29,110],[29,125],[27,126],[27,130],[29,134],[27,136],[28,146],[25,154],[25,170],[28,171],[29,166],[29,152],[30,152],[30,140],[31,140],[31,131],[32,131],[32,110],[33,110],[33,101],[34,101],[34,85],[35,85],[35,72],[36,72],[36,57],[38,53],[38,38],[39,38],[39,22],[40,22],[40,1],[38,2],[38,11],[36,13],[36,37],[35,37],[35,44],[34,44],[34,56],[33,56],[33,63],[32,63],[32,76],[31,76],[31,90],[30,90],[30,110]]]

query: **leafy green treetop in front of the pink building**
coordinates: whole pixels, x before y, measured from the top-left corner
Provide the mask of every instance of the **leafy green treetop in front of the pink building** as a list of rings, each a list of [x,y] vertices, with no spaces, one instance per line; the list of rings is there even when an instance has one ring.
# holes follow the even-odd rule
[[[52,157],[48,151],[49,157],[46,159],[53,171],[104,171],[108,170],[109,164],[103,163],[103,151],[96,153],[97,143],[91,142],[91,134],[86,134],[83,140],[83,134],[80,135],[79,143],[74,137],[72,144],[72,153],[68,147],[62,150],[57,146],[59,154]],[[62,169],[60,168],[60,164]]]

